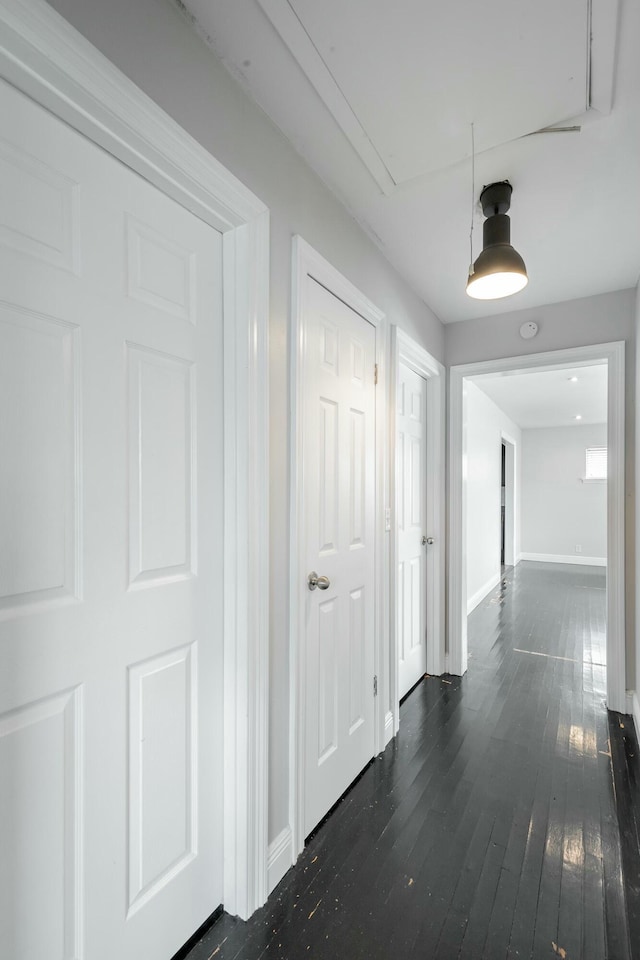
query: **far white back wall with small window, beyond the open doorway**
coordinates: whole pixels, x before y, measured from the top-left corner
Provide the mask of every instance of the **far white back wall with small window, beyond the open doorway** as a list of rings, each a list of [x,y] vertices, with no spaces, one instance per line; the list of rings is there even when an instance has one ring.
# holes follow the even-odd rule
[[[586,448],[606,445],[606,423],[522,431],[520,525],[525,559],[606,561],[607,485],[582,482]],[[576,551],[576,544],[581,551]]]

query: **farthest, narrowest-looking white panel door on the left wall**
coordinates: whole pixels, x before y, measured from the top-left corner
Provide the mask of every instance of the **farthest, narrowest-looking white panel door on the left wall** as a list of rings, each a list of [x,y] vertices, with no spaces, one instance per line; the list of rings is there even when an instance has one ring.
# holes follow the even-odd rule
[[[427,669],[427,382],[398,365],[398,684],[403,697]]]

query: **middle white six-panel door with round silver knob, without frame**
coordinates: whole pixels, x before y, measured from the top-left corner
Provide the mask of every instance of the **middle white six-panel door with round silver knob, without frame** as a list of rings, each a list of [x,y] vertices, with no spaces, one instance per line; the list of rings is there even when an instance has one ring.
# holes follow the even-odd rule
[[[307,285],[305,835],[374,751],[376,344],[370,323]],[[328,588],[309,589],[311,572]]]

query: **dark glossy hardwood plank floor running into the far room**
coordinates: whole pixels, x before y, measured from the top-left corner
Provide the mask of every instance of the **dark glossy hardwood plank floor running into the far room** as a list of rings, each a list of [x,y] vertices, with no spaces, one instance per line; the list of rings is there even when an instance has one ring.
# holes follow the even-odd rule
[[[521,563],[264,908],[189,960],[628,960],[604,570]]]

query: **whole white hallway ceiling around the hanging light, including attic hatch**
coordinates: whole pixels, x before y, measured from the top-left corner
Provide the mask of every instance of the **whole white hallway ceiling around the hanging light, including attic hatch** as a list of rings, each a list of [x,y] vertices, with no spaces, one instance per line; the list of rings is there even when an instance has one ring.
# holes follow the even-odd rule
[[[636,284],[635,0],[186,0],[245,90],[445,323]],[[472,194],[471,124],[475,139]],[[578,127],[577,132],[536,132]],[[530,282],[467,297],[483,184]],[[473,197],[473,202],[472,202]]]

